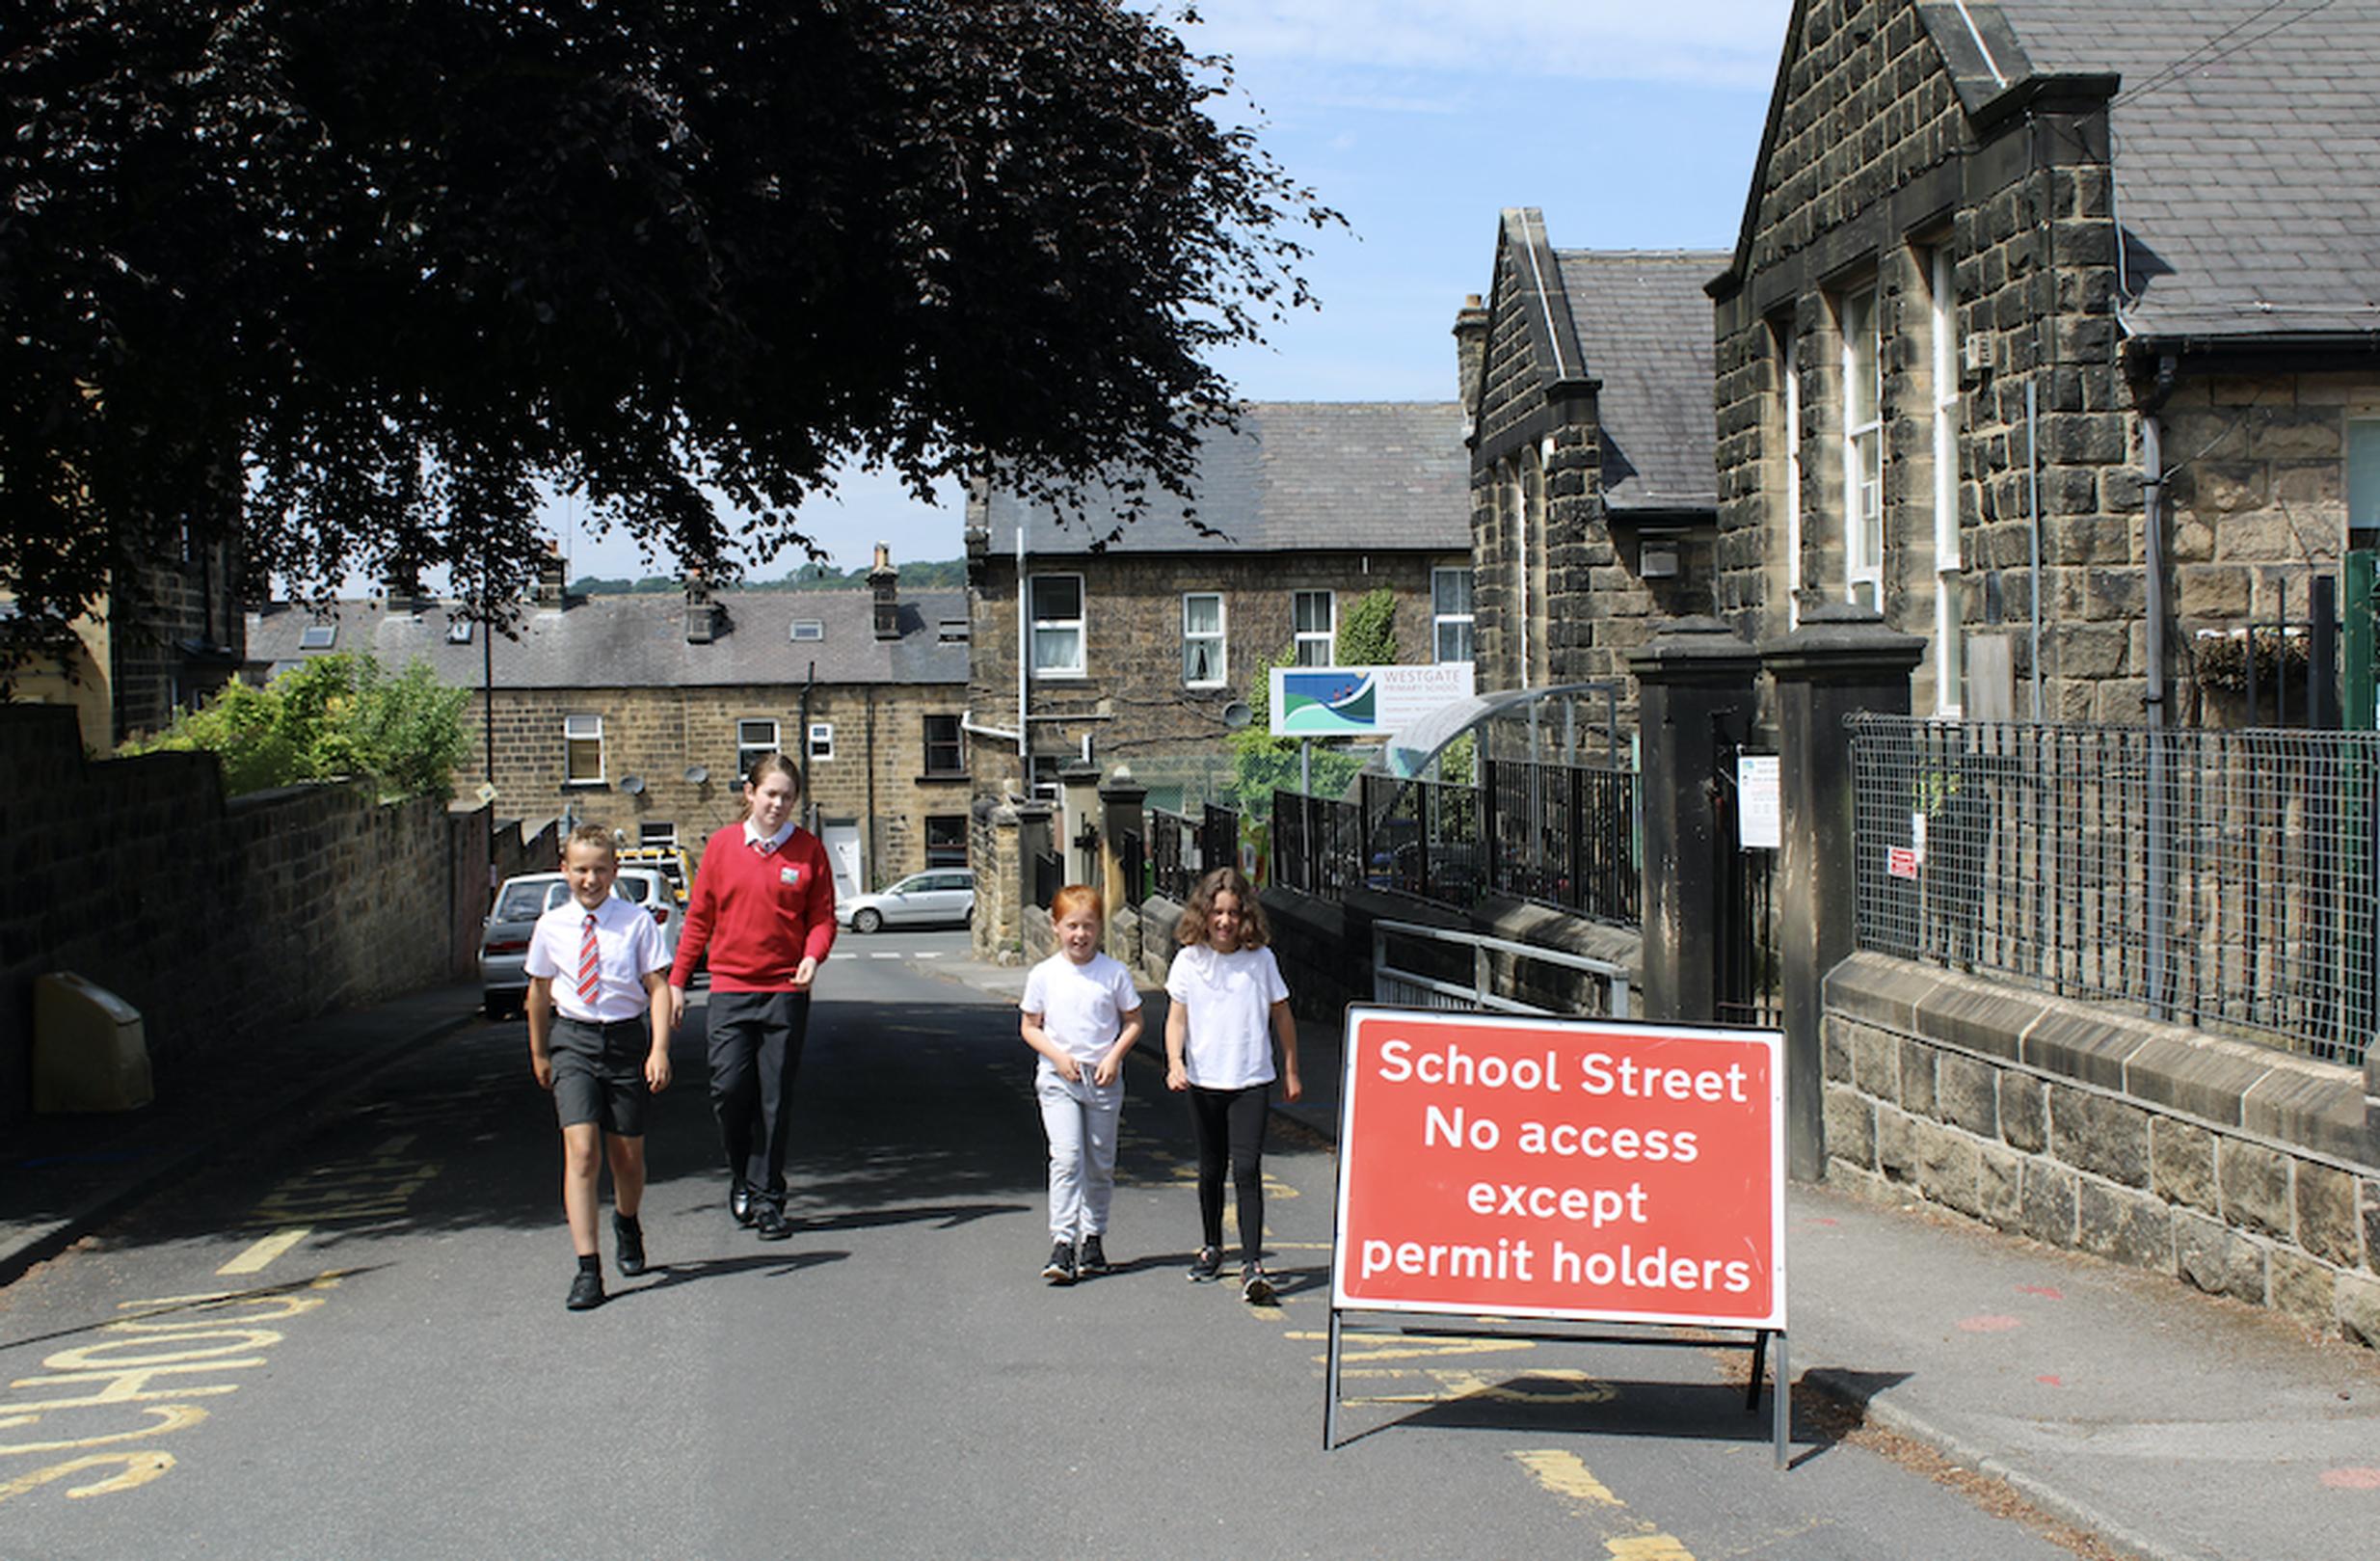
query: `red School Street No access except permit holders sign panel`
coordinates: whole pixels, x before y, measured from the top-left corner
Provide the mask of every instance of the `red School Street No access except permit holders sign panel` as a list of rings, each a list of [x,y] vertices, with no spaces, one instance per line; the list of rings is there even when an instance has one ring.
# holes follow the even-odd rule
[[[1333,1306],[1785,1328],[1783,1054],[1349,1009]]]

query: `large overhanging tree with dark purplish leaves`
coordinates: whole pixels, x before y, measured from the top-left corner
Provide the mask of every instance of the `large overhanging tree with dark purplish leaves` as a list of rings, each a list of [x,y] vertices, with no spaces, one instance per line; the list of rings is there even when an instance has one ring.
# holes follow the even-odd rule
[[[0,590],[500,597],[540,483],[714,573],[843,462],[1178,490],[1338,221],[1228,93],[1111,0],[0,0]]]

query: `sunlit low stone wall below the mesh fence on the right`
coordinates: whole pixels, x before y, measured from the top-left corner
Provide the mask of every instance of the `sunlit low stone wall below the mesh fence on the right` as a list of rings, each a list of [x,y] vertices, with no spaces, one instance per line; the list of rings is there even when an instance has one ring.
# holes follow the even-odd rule
[[[1825,978],[1830,1183],[2380,1349],[2373,1121],[2359,1068],[1883,954]]]

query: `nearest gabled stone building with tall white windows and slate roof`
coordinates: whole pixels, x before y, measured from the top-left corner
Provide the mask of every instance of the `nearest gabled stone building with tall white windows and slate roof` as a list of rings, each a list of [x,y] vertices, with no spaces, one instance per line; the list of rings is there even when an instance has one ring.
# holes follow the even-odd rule
[[[2380,538],[2375,76],[2373,0],[1799,0],[1711,283],[1721,612],[1880,609],[1918,711],[2237,723],[2247,626]]]

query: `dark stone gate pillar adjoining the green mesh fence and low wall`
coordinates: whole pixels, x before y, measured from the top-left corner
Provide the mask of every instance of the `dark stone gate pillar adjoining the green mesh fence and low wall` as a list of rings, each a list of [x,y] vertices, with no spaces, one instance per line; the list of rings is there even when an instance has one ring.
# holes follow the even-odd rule
[[[1761,645],[1778,695],[1778,957],[1785,1007],[1785,1168],[1825,1176],[1825,973],[1856,940],[1852,731],[1844,716],[1909,714],[1909,673],[1925,640],[1880,614],[1828,602]]]

